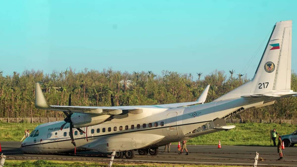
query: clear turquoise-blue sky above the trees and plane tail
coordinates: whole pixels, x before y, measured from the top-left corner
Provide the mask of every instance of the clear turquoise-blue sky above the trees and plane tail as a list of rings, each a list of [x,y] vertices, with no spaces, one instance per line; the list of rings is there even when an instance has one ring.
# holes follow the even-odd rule
[[[193,73],[195,79],[198,72],[229,76],[234,69],[252,78],[273,25],[293,20],[297,71],[296,6],[274,0],[1,1],[0,70],[112,67]]]

